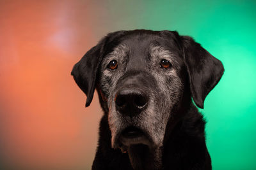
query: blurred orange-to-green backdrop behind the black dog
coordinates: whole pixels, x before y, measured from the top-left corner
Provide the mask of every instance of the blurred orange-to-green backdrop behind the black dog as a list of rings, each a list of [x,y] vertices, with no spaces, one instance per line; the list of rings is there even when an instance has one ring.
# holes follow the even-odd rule
[[[90,169],[102,111],[72,66],[108,32],[177,30],[225,73],[205,109],[213,169],[256,169],[256,2],[0,1],[0,164]],[[4,169],[4,168],[3,168]]]

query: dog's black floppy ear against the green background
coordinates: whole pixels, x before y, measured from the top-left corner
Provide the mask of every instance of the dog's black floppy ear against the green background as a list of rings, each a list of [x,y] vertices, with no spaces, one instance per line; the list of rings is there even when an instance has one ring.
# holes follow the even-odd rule
[[[188,69],[190,89],[196,106],[204,108],[204,99],[220,81],[224,67],[189,36],[181,36],[184,61]]]

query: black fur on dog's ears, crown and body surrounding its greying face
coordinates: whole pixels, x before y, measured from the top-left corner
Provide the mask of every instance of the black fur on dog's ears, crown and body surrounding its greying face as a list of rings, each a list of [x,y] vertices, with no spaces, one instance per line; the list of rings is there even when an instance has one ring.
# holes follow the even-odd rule
[[[137,160],[138,167],[141,161],[147,165],[139,169],[154,169],[154,162],[150,162],[147,147],[135,148],[138,154],[132,158],[131,155],[129,158],[127,153],[111,147],[106,103],[108,96],[106,92],[102,92],[99,83],[102,58],[125,39],[136,38],[136,34],[144,34],[148,39],[165,38],[158,41],[159,45],[179,55],[184,65],[180,64],[184,92],[179,105],[173,110],[174,116],[168,120],[161,146],[161,169],[211,169],[211,158],[205,145],[205,121],[191,98],[193,97],[198,107],[204,108],[205,97],[220,81],[224,71],[223,65],[189,36],[179,36],[176,31],[148,30],[108,34],[89,50],[72,70],[74,80],[87,96],[86,106],[90,105],[96,88],[100,105],[104,110],[104,116],[100,121],[99,145],[92,169],[132,169],[131,159]]]

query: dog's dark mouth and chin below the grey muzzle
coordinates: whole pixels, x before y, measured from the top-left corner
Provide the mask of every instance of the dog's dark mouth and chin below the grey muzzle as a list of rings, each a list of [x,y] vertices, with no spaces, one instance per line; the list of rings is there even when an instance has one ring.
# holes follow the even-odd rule
[[[154,146],[150,136],[148,136],[147,132],[143,132],[141,129],[137,127],[127,127],[123,131],[120,131],[118,135],[116,135],[116,139],[114,140],[113,147],[121,148],[122,152],[126,152],[127,148],[131,145],[147,145],[149,148]]]

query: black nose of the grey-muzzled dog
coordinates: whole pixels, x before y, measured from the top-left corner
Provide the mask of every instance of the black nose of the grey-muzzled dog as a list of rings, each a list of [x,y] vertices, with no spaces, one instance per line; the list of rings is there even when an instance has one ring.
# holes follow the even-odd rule
[[[148,96],[138,89],[122,89],[115,96],[116,110],[134,116],[147,107]]]

